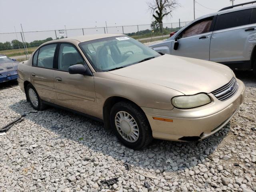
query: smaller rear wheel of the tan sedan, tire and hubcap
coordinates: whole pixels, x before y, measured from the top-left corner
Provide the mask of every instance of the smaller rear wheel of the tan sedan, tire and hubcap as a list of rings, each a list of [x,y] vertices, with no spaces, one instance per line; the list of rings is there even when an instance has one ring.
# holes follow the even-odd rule
[[[28,84],[28,86],[26,87],[26,95],[28,96],[28,100],[34,109],[40,111],[45,108],[45,105],[43,104],[38,93],[36,92],[36,89],[32,84]]]

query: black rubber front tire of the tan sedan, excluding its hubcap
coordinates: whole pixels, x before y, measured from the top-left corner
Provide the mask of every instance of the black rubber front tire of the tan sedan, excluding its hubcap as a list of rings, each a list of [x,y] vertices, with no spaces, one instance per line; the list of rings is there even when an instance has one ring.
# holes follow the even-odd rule
[[[116,114],[120,111],[124,111],[129,113],[138,125],[139,136],[138,140],[135,142],[128,142],[125,140],[118,132],[115,124]],[[139,108],[136,104],[132,102],[118,102],[114,104],[110,111],[110,124],[112,130],[116,134],[117,138],[128,148],[132,149],[140,149],[146,147],[150,142],[152,142],[152,130],[150,128],[150,124],[148,119],[141,108]]]

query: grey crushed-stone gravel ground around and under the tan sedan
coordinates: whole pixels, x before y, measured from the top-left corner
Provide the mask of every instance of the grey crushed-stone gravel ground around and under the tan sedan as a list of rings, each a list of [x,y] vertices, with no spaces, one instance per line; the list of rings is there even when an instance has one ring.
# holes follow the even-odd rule
[[[256,191],[256,79],[237,76],[246,84],[245,101],[222,130],[202,142],[154,140],[138,151],[83,116],[30,112],[17,83],[4,83],[0,127],[27,115],[0,136],[0,191]],[[101,180],[114,177],[111,189],[100,189]]]

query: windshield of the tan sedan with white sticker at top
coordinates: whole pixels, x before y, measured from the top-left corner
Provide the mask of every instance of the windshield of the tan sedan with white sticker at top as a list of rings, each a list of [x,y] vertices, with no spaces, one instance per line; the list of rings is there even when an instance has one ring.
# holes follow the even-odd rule
[[[96,72],[116,70],[160,56],[156,51],[128,36],[82,42],[79,47]]]

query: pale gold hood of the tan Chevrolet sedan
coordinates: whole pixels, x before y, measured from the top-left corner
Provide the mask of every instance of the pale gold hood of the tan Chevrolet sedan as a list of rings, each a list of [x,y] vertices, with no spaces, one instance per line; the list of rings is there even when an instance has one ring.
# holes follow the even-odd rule
[[[210,93],[233,77],[230,68],[222,64],[168,54],[109,73],[172,88],[185,95]]]

